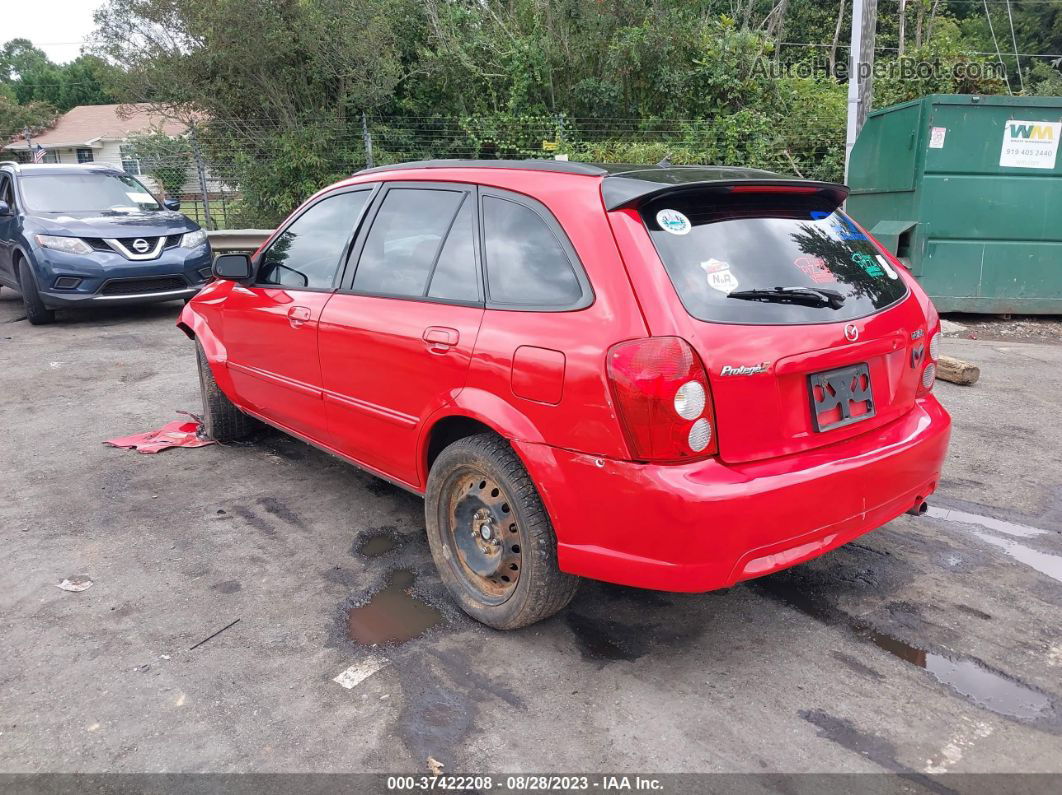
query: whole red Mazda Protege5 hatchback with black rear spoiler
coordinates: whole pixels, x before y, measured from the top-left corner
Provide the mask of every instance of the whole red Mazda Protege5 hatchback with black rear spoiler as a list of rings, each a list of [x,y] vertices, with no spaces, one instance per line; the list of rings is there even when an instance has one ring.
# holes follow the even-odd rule
[[[485,624],[579,577],[706,591],[937,487],[939,318],[839,206],[766,171],[369,169],[185,308],[207,432],[262,420],[424,495]]]

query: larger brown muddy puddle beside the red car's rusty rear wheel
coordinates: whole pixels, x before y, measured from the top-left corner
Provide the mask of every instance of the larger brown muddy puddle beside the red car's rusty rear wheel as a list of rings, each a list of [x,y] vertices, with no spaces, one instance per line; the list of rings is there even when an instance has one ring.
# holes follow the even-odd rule
[[[364,645],[405,643],[442,623],[439,610],[410,594],[412,585],[412,571],[393,571],[387,587],[373,594],[367,605],[350,608],[346,617],[350,640]]]

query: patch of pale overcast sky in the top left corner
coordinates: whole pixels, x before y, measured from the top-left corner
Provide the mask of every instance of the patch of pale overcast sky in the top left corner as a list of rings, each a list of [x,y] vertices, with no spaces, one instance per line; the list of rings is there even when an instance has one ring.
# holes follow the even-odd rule
[[[7,3],[0,42],[28,38],[56,64],[81,54],[96,27],[92,12],[103,4],[102,0],[4,0]]]

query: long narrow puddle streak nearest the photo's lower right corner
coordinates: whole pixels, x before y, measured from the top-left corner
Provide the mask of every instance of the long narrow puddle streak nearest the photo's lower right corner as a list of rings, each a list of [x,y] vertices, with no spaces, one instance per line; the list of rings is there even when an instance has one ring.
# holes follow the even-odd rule
[[[1058,723],[1059,710],[1049,695],[1033,690],[1001,672],[992,671],[973,658],[943,655],[920,649],[874,629],[866,622],[799,588],[790,587],[781,580],[775,582],[767,577],[757,581],[754,587],[758,592],[794,607],[824,624],[846,626],[878,649],[926,670],[937,681],[979,707],[1020,721],[1051,725]]]

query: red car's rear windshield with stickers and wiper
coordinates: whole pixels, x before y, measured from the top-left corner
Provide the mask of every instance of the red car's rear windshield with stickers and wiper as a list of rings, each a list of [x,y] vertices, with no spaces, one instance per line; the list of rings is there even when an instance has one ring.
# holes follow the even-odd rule
[[[672,193],[641,210],[686,311],[702,321],[850,321],[907,294],[880,250],[825,195]],[[775,303],[776,288],[839,294],[822,306]],[[798,291],[799,292],[799,291]]]

